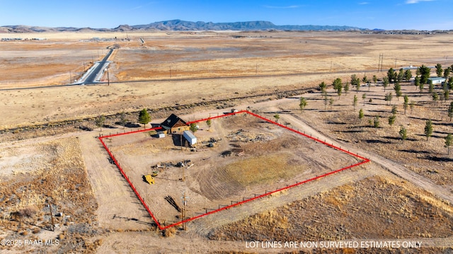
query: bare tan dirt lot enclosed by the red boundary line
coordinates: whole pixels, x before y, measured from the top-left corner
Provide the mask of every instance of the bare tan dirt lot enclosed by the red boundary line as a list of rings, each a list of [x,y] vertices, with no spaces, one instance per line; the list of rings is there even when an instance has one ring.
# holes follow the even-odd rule
[[[148,133],[107,139],[110,151],[159,221],[180,221],[178,210],[164,199],[168,195],[182,207],[180,196],[185,192],[190,197],[187,216],[195,217],[231,200],[241,201],[359,162],[252,115],[222,117],[213,122],[209,129],[200,122],[203,129],[195,133],[199,143],[196,152],[180,151],[179,134],[164,139],[149,137]],[[185,167],[176,166],[183,161],[190,162]],[[168,163],[171,166],[167,167]],[[159,171],[156,184],[144,183],[143,175],[156,165],[162,167],[155,169]],[[183,177],[185,182],[181,181]]]

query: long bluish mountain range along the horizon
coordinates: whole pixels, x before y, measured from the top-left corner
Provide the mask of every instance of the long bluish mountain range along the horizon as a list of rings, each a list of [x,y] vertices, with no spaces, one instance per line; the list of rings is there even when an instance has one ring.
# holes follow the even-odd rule
[[[0,27],[0,33],[33,33],[33,32],[87,32],[87,31],[112,31],[112,32],[127,32],[134,30],[166,30],[166,31],[187,31],[187,30],[335,30],[335,31],[351,31],[351,30],[368,30],[365,28],[356,28],[352,26],[339,25],[275,25],[269,21],[246,21],[233,23],[212,23],[212,22],[193,22],[180,21],[159,21],[149,23],[147,25],[120,25],[117,28],[47,28],[40,26],[28,25],[4,25]]]

